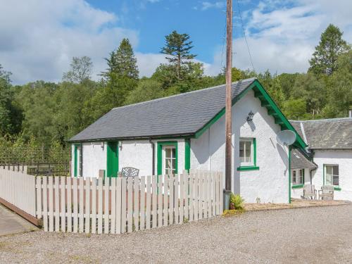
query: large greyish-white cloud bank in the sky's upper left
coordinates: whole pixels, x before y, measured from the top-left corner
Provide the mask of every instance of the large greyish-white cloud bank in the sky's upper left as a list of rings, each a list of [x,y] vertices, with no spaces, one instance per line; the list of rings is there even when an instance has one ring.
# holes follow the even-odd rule
[[[0,0],[0,6],[0,63],[15,84],[61,80],[73,56],[90,56],[95,75],[123,37],[138,44],[137,32],[115,26],[115,14],[83,0]]]

